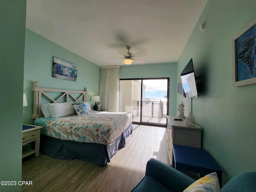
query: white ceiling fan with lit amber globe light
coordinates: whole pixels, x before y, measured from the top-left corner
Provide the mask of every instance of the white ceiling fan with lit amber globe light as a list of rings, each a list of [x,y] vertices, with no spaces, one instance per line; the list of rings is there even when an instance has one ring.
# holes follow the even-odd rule
[[[122,50],[122,49],[118,49],[118,53],[120,53],[122,56],[124,57],[121,57],[120,59],[124,59],[124,64],[126,65],[130,65],[132,64],[132,62],[137,62],[137,63],[144,63],[144,60],[141,59],[141,57],[143,56],[146,56],[148,55],[147,53],[145,52],[135,52],[135,53],[130,53],[129,50],[130,50],[130,46],[127,46],[126,47],[128,52]],[[119,58],[119,57],[110,57],[110,58]]]

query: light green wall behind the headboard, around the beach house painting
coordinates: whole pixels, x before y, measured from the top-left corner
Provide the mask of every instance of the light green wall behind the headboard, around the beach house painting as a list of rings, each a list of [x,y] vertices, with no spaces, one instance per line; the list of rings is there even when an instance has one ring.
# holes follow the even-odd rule
[[[76,82],[52,77],[53,56],[76,64]],[[87,87],[87,101],[90,101],[91,95],[99,94],[100,67],[26,28],[24,93],[28,106],[23,108],[24,124],[34,124],[31,119],[34,81],[38,81],[38,86],[42,88],[84,90]]]

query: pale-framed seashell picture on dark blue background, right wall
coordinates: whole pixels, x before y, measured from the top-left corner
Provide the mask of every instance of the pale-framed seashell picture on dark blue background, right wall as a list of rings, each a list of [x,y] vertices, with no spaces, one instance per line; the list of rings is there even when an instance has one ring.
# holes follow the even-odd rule
[[[233,87],[256,83],[256,18],[232,38]]]

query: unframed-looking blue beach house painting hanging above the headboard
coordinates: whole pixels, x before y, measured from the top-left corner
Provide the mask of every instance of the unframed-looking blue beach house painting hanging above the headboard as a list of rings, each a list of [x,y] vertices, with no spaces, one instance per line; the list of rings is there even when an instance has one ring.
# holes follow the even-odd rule
[[[52,76],[59,79],[76,81],[77,79],[76,64],[62,60],[58,57],[53,57]]]

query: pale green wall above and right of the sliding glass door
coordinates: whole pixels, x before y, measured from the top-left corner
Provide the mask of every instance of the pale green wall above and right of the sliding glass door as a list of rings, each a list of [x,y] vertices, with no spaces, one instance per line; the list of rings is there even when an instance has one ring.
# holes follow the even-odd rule
[[[169,115],[176,114],[177,64],[160,63],[120,66],[120,79],[128,78],[170,78]]]

